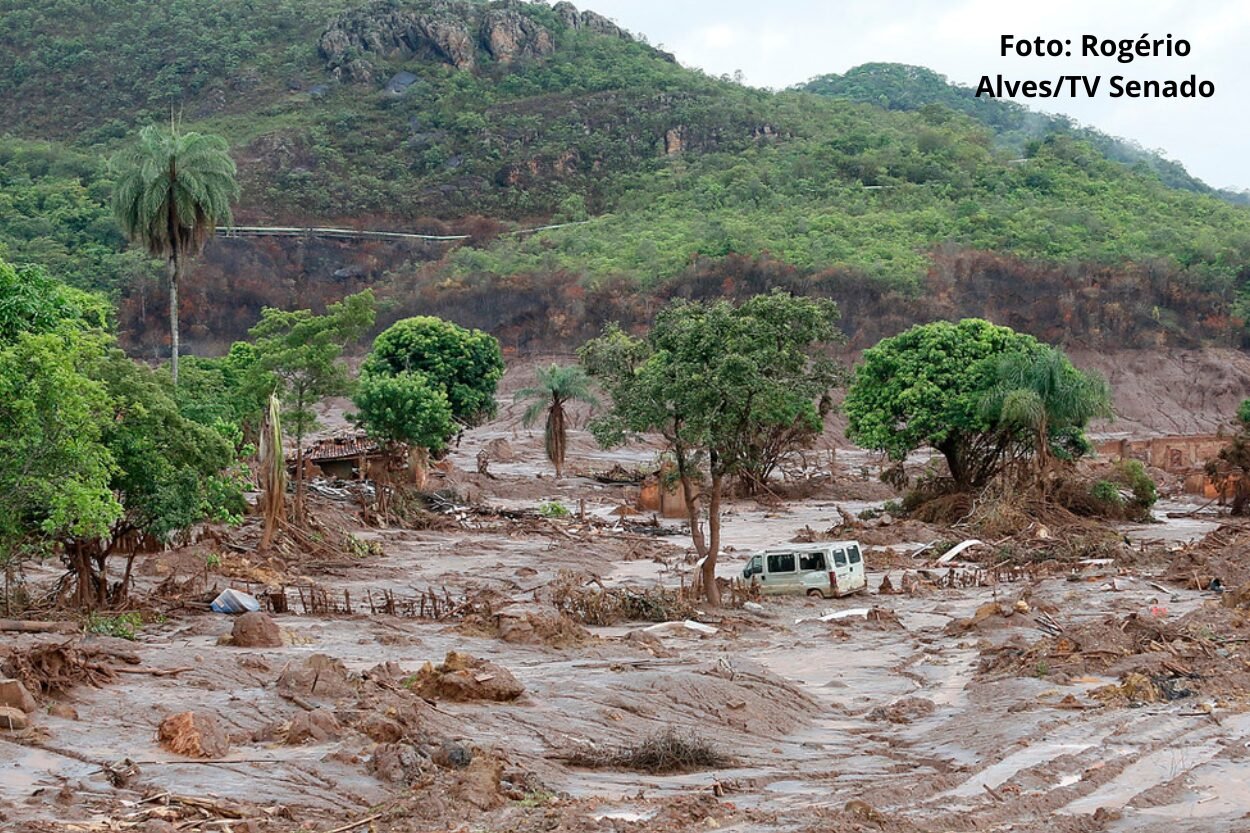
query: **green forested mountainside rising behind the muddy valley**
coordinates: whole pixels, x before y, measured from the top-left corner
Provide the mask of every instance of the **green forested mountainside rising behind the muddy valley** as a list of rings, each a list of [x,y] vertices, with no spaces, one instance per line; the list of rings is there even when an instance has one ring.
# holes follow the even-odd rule
[[[778,275],[919,303],[972,263],[1042,281],[1041,298],[1066,281],[1078,306],[1102,304],[1109,275],[1146,281],[1119,324],[1082,325],[1094,340],[1241,338],[1250,211],[1131,145],[970,99],[928,70],[755,90],[568,3],[5,6],[0,245],[111,293],[130,344],[160,309],[159,270],[124,251],[105,160],[170,118],[230,140],[240,223],[471,234],[421,251],[210,246],[185,301],[192,344],[236,336],[261,304],[370,283],[520,345],[622,309],[644,318],[655,293],[734,294]],[[498,309],[500,288],[529,305]],[[568,309],[534,311],[552,305]],[[1208,310],[1201,328],[1191,308]]]

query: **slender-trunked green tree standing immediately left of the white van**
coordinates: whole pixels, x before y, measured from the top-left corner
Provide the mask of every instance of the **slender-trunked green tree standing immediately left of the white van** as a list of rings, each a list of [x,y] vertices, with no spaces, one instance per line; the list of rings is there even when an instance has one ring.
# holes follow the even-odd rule
[[[659,313],[645,339],[609,328],[579,351],[611,396],[609,413],[591,423],[596,439],[612,445],[641,433],[664,438],[709,604],[720,603],[725,479],[751,464],[761,434],[795,425],[819,432],[820,401],[840,376],[828,346],[839,339],[832,301],[772,293],[740,306],[676,301]],[[700,504],[706,504],[706,534]]]

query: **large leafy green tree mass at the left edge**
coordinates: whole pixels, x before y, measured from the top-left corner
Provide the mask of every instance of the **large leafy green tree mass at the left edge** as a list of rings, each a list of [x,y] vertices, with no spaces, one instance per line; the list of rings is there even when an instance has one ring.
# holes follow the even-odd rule
[[[116,600],[111,554],[242,512],[232,449],[116,349],[99,299],[2,261],[0,284],[0,558],[59,549],[81,605]]]

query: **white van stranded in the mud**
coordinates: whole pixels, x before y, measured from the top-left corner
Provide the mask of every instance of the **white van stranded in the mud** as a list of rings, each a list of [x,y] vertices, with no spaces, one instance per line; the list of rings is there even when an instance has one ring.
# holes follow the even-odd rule
[[[742,578],[764,593],[806,593],[825,599],[868,588],[858,540],[765,549],[746,562]]]

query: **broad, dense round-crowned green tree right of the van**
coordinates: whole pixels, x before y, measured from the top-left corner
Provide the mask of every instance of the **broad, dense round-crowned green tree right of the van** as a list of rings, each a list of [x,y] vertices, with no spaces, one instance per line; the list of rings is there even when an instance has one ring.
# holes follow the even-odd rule
[[[969,490],[1022,450],[1036,452],[1038,437],[1050,438],[1044,453],[1062,438],[1075,442],[1072,429],[1104,413],[1104,396],[1105,385],[1031,335],[965,319],[912,326],[865,350],[842,409],[859,445],[899,462],[934,448],[955,488]]]

